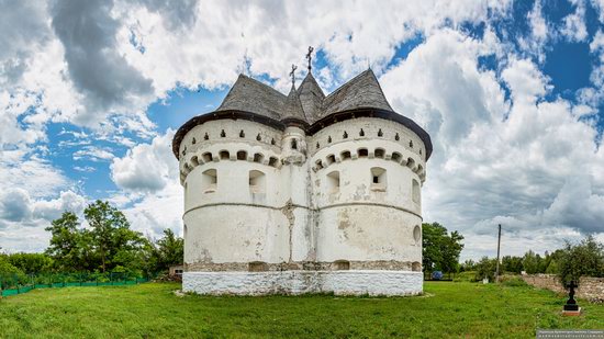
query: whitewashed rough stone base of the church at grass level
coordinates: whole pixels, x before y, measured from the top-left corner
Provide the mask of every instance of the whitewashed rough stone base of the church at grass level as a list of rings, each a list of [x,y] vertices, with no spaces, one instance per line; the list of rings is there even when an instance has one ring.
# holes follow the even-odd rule
[[[423,278],[422,272],[383,270],[184,272],[182,290],[213,295],[417,295],[423,292]]]

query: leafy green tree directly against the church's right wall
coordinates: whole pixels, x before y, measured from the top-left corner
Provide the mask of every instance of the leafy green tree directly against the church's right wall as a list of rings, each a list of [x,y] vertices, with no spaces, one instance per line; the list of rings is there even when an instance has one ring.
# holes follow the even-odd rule
[[[457,272],[459,255],[463,249],[463,236],[458,231],[447,234],[447,228],[438,223],[422,224],[423,265],[425,272],[435,270]]]

